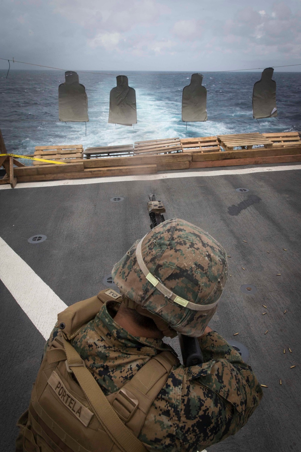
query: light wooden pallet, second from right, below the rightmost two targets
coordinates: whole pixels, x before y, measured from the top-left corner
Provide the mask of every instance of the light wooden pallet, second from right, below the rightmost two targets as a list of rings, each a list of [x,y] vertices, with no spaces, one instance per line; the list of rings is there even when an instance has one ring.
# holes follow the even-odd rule
[[[252,149],[253,146],[264,146],[264,148],[273,146],[273,141],[270,141],[269,138],[264,137],[259,132],[218,135],[218,141],[225,151],[233,151],[235,147]]]

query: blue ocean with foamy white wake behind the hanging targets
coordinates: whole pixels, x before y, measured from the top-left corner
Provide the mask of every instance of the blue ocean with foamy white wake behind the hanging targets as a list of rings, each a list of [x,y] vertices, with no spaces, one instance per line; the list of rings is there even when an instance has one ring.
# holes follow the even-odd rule
[[[301,131],[301,72],[275,72],[278,117],[252,118],[252,92],[260,72],[204,72],[206,122],[182,122],[181,99],[191,74],[79,73],[88,95],[85,123],[59,122],[58,86],[63,71],[0,71],[0,128],[8,152],[32,154],[35,146],[83,144],[84,148],[174,137],[206,137],[247,132]],[[110,90],[124,74],[136,90],[134,127],[108,124]],[[26,162],[28,163],[28,161]]]

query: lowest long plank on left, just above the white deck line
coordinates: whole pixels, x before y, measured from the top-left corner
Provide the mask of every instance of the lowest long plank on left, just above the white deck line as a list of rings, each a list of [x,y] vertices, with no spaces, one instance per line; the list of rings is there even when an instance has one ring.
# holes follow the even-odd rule
[[[58,179],[83,179],[87,177],[110,177],[130,174],[154,174],[157,173],[157,165],[139,165],[122,166],[111,168],[94,168],[74,173],[57,174],[36,174],[28,176],[19,176],[19,182],[32,182],[39,180],[58,180]]]

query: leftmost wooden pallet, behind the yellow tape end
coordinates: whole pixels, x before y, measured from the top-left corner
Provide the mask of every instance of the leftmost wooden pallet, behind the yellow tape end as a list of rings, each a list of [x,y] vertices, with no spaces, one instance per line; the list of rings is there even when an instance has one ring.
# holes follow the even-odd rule
[[[34,157],[37,157],[39,159],[57,160],[64,163],[75,163],[83,160],[82,153],[82,144],[62,146],[36,146]],[[49,165],[49,163],[33,160],[33,165]]]

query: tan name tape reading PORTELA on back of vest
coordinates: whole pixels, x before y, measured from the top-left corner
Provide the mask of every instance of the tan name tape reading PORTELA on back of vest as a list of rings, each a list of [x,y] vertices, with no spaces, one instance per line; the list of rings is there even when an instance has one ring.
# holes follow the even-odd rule
[[[48,384],[72,414],[87,427],[93,413],[66,390],[63,382],[55,371],[52,372]]]

